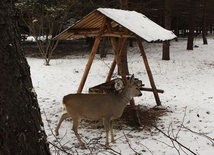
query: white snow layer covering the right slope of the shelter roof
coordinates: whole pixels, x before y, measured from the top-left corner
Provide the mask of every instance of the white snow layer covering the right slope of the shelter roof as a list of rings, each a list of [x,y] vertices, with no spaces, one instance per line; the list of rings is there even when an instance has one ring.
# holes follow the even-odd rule
[[[134,32],[148,42],[172,40],[176,38],[176,35],[174,35],[173,32],[162,28],[160,25],[151,21],[145,15],[136,11],[110,8],[99,8],[97,11]]]

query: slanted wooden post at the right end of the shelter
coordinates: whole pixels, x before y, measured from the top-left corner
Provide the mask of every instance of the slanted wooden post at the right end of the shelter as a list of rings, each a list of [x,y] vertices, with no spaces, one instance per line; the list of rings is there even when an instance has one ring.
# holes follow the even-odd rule
[[[143,48],[142,40],[138,36],[136,36],[136,40],[137,40],[137,43],[139,45],[141,55],[143,57],[143,61],[144,61],[145,67],[146,67],[147,74],[149,76],[149,81],[150,81],[150,84],[151,84],[151,87],[152,87],[153,94],[155,96],[155,100],[156,100],[157,106],[160,106],[161,105],[160,98],[159,98],[159,95],[158,95],[158,92],[157,92],[157,88],[155,86],[155,82],[154,82],[154,79],[153,79],[153,76],[152,76],[152,72],[151,72],[150,67],[149,67],[149,63],[148,63],[148,60],[147,60],[147,57],[146,57],[146,53],[145,53],[144,48]]]

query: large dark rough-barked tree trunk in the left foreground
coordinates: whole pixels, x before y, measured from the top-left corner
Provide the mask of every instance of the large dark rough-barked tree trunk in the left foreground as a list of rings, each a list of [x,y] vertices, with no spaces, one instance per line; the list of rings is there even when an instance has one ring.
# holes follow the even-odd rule
[[[13,1],[0,1],[0,154],[50,154]]]

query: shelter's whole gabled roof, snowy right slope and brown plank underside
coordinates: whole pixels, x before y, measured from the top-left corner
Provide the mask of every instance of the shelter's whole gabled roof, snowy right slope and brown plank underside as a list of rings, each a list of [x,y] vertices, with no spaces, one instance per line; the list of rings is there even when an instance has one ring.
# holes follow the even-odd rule
[[[164,29],[151,21],[145,15],[136,11],[98,8],[76,22],[74,25],[65,29],[62,33],[57,35],[55,39],[97,36],[104,17],[110,19],[110,24],[113,28],[122,26],[127,29],[129,31],[129,35],[126,37],[134,37],[137,35],[147,42],[166,41],[176,38],[176,35],[172,31]],[[116,35],[117,37],[122,37],[121,32],[109,34],[106,30],[103,33],[103,36]]]

